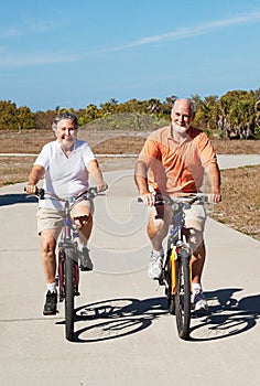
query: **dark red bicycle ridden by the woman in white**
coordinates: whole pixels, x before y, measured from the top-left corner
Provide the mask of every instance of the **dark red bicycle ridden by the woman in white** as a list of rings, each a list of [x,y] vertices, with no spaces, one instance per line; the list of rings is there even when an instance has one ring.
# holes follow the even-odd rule
[[[50,196],[54,200],[64,202],[63,228],[58,242],[58,265],[57,278],[58,300],[65,300],[65,336],[68,341],[74,341],[74,307],[75,297],[78,297],[79,287],[79,267],[80,254],[78,249],[77,238],[79,236],[76,225],[71,217],[71,204],[80,197],[94,199],[97,196],[97,189],[90,187],[80,192],[76,196],[59,197],[58,195],[39,189],[35,193],[40,200]]]

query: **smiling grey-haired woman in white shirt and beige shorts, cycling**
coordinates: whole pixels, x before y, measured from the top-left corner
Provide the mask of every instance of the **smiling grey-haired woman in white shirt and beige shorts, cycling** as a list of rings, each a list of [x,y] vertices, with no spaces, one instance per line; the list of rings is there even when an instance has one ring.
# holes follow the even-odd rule
[[[86,141],[77,140],[78,121],[75,114],[61,112],[53,121],[56,140],[46,143],[36,158],[26,184],[28,193],[35,193],[40,180],[43,187],[58,196],[72,196],[88,187],[89,175],[94,178],[98,192],[107,189],[95,154]],[[93,202],[83,200],[72,210],[72,217],[79,229],[83,270],[93,269],[87,242],[93,228]],[[40,200],[37,232],[41,240],[43,270],[47,285],[43,314],[56,313],[57,293],[56,240],[63,225],[63,203],[47,199]]]

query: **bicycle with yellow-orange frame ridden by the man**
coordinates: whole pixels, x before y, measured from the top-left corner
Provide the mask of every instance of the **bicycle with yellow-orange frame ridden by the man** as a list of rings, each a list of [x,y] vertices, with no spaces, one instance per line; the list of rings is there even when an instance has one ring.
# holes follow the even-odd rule
[[[139,199],[141,201],[141,199]],[[167,204],[173,210],[167,236],[167,251],[159,283],[165,286],[169,312],[175,314],[178,336],[189,339],[192,294],[192,248],[185,232],[185,210],[195,202],[208,202],[206,195],[192,194],[182,197],[165,197],[155,194],[154,205]]]

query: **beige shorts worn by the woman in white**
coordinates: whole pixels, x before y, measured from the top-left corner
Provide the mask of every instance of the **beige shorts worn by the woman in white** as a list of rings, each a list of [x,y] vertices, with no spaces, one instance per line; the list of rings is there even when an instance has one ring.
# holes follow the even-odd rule
[[[94,203],[90,200],[82,200],[79,203],[76,203],[72,207],[72,216],[80,216],[86,214],[87,212],[91,215],[94,214]],[[57,237],[63,227],[63,211],[51,210],[48,207],[39,207],[36,213],[37,218],[37,234],[45,229],[52,229]]]

